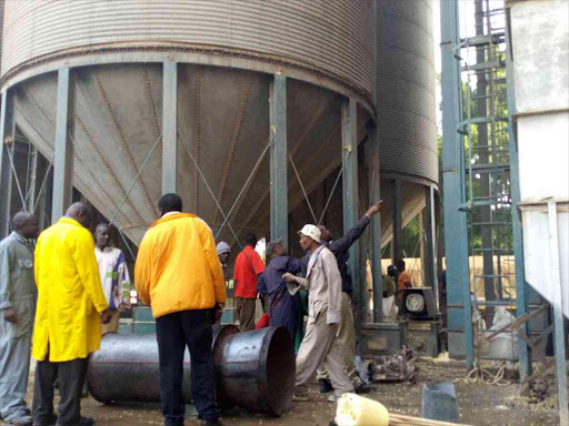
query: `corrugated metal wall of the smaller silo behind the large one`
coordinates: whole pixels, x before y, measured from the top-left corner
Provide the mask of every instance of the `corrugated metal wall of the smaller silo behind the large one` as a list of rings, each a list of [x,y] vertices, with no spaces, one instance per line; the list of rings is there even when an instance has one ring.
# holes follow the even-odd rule
[[[381,171],[438,181],[431,1],[378,1]]]

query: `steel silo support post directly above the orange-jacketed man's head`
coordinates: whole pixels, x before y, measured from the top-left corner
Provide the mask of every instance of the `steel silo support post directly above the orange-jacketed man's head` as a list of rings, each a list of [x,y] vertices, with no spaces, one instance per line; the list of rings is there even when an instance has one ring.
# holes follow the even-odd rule
[[[178,63],[162,73],[162,194],[176,193],[178,176]]]

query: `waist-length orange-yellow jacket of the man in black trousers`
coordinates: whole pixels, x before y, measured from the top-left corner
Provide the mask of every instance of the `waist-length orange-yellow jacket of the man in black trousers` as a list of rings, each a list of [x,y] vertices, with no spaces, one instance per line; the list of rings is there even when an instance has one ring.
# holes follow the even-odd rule
[[[226,302],[213,234],[193,214],[170,213],[152,224],[140,243],[134,278],[154,317]]]

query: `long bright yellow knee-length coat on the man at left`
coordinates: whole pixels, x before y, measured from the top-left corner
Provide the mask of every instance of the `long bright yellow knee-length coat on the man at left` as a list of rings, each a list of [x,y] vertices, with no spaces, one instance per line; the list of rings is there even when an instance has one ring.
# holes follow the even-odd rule
[[[32,355],[39,361],[86,358],[101,344],[100,312],[109,307],[94,257],[94,241],[70,217],[43,231],[36,246],[38,310]]]

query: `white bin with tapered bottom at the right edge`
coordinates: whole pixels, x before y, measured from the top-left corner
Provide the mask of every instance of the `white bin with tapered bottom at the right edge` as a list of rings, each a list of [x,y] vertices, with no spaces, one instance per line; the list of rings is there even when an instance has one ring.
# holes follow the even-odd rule
[[[569,317],[569,1],[510,2],[521,202],[556,199],[561,290],[547,204],[522,209],[526,280]]]

